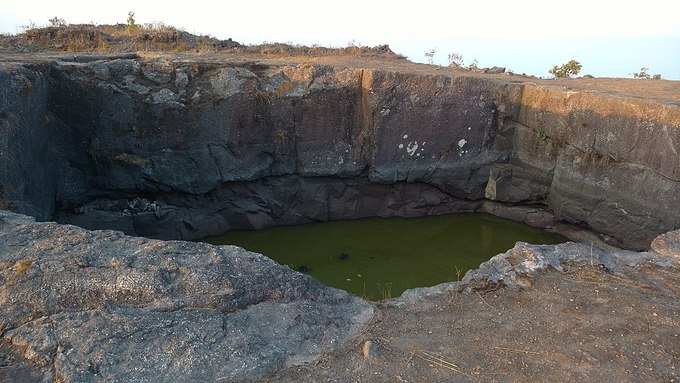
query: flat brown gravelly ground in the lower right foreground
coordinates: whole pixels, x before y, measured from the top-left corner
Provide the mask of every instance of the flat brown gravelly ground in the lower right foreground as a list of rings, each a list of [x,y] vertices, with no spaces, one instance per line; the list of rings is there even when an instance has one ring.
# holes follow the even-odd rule
[[[680,381],[678,264],[612,271],[593,259],[551,268],[523,288],[407,292],[380,304],[354,342],[268,381]]]

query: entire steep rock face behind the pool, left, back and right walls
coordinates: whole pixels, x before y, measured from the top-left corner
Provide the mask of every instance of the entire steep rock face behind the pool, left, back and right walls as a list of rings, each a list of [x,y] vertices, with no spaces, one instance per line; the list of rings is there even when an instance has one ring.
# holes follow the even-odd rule
[[[23,124],[24,142],[40,132],[49,150],[3,152],[13,165],[2,184],[49,182],[41,196],[5,190],[0,200],[38,217],[194,239],[495,212],[496,201],[542,206],[631,248],[680,226],[676,105],[313,64],[58,61],[0,78],[23,72],[43,84],[33,101],[42,109],[21,109],[26,98],[10,93],[1,126]],[[22,156],[42,167],[22,173]]]

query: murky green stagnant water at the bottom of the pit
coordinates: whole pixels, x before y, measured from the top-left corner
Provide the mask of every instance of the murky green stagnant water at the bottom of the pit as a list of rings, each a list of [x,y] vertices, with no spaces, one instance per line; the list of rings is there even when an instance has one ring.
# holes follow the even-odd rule
[[[455,281],[515,242],[565,239],[487,214],[369,218],[232,231],[206,240],[262,253],[367,299]]]

